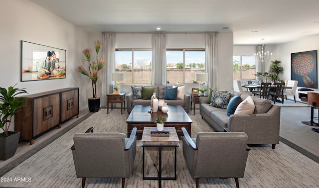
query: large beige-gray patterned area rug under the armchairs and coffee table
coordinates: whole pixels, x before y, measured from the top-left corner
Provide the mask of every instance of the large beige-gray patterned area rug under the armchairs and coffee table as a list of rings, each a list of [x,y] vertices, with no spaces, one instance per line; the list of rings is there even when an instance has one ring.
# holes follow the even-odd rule
[[[28,158],[13,170],[2,176],[7,182],[0,182],[0,187],[15,188],[78,188],[81,179],[76,178],[72,152],[73,135],[85,132],[94,127],[94,132],[127,132],[127,113],[113,109],[106,114],[101,109],[73,129],[56,139],[54,142]],[[199,113],[193,115],[192,137],[200,131],[213,129],[203,120]],[[182,142],[177,148],[177,180],[162,181],[163,188],[194,188],[182,154]],[[94,146],[97,149],[99,146]],[[137,143],[134,171],[131,178],[126,179],[126,188],[157,188],[158,182],[142,180],[142,147],[141,140]],[[88,159],[89,161],[90,159]],[[173,155],[163,167],[163,177],[173,176]],[[214,160],[214,159],[211,159]],[[305,155],[280,142],[273,150],[271,145],[251,146],[248,155],[244,178],[239,179],[242,188],[315,188],[319,187],[319,164]],[[156,176],[157,171],[153,162],[146,155],[146,175]],[[20,178],[19,180],[17,178]],[[87,178],[87,188],[119,188],[121,179],[118,178]],[[234,188],[234,179],[200,179],[201,188]]]

